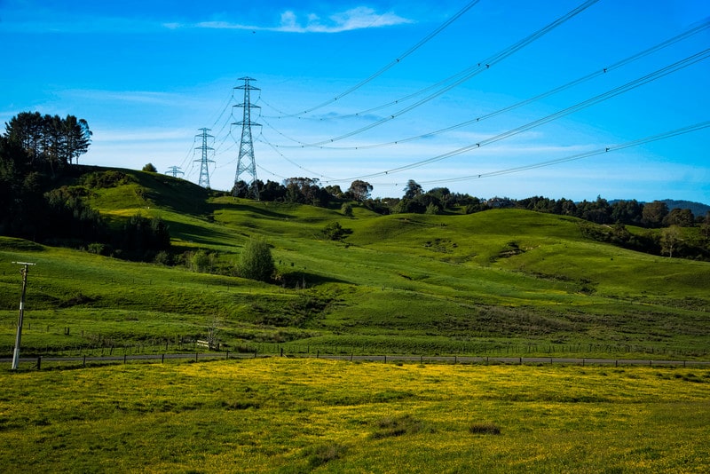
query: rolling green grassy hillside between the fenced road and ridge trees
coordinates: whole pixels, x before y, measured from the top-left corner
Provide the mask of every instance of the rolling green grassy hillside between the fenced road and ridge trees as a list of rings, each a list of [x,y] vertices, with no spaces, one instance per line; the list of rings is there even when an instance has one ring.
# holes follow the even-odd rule
[[[520,209],[380,216],[357,206],[345,217],[121,171],[133,178],[92,188],[91,206],[113,222],[138,212],[162,217],[177,253],[209,250],[221,274],[0,238],[0,352],[12,348],[20,297],[12,261],[37,264],[28,352],[171,348],[209,328],[232,350],[675,357],[710,350],[710,264],[588,240],[572,217]],[[333,222],[348,231],[343,241],[324,239]],[[282,284],[231,276],[251,236],[272,246]]]

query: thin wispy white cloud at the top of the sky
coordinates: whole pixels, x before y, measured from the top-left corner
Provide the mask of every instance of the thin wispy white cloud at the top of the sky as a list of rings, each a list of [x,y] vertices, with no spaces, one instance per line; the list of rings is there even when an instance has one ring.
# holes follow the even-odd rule
[[[196,28],[216,29],[246,29],[252,31],[277,31],[283,33],[342,33],[364,28],[383,28],[394,25],[412,23],[413,20],[400,17],[394,12],[379,13],[367,6],[359,6],[345,12],[336,12],[322,18],[316,13],[299,15],[288,10],[280,14],[280,22],[276,26],[256,26],[230,21],[202,21],[194,25]],[[170,23],[166,28],[179,28],[184,25]]]

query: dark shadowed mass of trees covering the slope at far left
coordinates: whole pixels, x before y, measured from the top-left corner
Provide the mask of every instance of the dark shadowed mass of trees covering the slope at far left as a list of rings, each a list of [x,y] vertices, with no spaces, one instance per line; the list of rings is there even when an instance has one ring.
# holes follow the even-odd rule
[[[79,170],[79,157],[90,145],[89,124],[74,115],[24,112],[5,122],[0,135],[0,235],[152,259],[170,247],[168,226],[161,219],[137,215],[111,226],[88,204],[91,188],[130,180],[117,171]]]

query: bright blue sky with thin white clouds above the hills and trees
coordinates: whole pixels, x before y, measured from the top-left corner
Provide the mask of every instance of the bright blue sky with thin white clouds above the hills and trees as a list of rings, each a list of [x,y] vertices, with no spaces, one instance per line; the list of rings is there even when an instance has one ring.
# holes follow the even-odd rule
[[[303,176],[346,189],[365,178],[375,196],[401,196],[414,179],[480,197],[710,203],[710,127],[623,147],[710,120],[707,54],[657,73],[710,48],[710,2],[600,0],[511,51],[584,2],[480,0],[431,36],[471,3],[0,0],[0,121],[76,115],[94,133],[81,162],[179,166],[194,182],[195,135],[207,127],[210,185],[227,190],[241,137],[233,88],[250,76],[264,181]],[[466,71],[454,87],[448,78]],[[533,126],[544,117],[554,120]]]

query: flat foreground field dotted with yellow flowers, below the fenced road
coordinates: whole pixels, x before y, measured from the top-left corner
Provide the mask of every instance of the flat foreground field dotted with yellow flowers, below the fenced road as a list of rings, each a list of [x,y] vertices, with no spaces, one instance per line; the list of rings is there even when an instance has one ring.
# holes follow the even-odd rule
[[[4,472],[710,470],[710,371],[244,359],[4,371]]]

